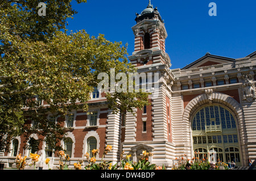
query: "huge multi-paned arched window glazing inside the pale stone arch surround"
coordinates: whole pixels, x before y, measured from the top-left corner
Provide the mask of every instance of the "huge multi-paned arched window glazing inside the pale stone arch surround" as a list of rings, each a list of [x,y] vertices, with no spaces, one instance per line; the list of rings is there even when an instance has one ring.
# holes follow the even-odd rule
[[[218,104],[201,107],[192,117],[191,128],[194,151],[207,152],[208,161],[241,165],[236,120],[228,108]]]

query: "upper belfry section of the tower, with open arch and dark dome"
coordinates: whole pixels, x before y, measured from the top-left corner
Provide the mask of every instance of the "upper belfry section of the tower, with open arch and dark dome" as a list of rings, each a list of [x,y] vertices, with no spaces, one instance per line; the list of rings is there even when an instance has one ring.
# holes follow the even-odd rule
[[[158,8],[153,8],[151,1],[141,14],[136,13],[137,24],[132,27],[134,32],[134,52],[129,59],[136,66],[150,64],[166,64],[171,67],[171,60],[166,53],[166,28]]]

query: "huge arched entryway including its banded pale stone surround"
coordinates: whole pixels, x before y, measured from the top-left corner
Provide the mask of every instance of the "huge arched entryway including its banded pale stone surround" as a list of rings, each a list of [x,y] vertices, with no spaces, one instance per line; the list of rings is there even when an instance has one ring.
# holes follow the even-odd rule
[[[245,148],[240,142],[246,137],[241,127],[242,107],[232,97],[213,91],[196,96],[184,109],[183,123],[191,130],[187,140],[191,157],[201,150],[208,158],[210,154],[210,159],[246,165]]]

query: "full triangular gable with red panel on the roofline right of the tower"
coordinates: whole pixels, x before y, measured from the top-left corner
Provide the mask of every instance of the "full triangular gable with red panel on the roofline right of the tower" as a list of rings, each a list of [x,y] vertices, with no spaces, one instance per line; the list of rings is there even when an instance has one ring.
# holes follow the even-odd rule
[[[222,57],[222,56],[217,56],[210,54],[207,52],[205,56],[197,59],[196,61],[192,62],[191,64],[185,66],[181,70],[184,69],[191,69],[191,68],[199,68],[201,66],[210,66],[210,65],[216,65],[216,64],[225,64],[225,63],[230,63],[234,62],[234,58],[228,58],[228,57]]]

